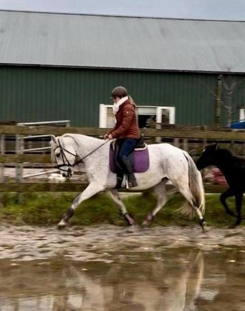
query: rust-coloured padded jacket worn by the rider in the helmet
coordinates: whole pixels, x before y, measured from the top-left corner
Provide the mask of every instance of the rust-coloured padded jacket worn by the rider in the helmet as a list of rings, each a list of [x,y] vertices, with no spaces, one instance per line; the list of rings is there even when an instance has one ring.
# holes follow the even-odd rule
[[[136,110],[129,100],[122,103],[116,113],[116,125],[108,133],[113,138],[140,138]]]

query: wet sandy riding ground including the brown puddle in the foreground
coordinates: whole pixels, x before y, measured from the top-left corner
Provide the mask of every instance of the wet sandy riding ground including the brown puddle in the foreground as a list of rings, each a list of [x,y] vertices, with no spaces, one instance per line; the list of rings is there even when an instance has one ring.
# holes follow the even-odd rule
[[[0,227],[0,310],[245,310],[245,230]]]

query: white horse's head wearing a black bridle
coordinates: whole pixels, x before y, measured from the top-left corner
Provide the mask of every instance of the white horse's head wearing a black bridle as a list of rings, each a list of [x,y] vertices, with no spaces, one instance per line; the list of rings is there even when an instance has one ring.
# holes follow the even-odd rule
[[[74,141],[69,136],[51,136],[51,158],[57,162],[57,169],[60,169],[63,177],[71,177],[73,166],[77,163],[77,152]]]

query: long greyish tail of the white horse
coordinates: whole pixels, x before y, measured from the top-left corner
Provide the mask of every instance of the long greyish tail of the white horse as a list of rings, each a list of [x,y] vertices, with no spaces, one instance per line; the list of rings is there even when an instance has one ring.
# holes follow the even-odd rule
[[[192,157],[185,151],[183,151],[186,160],[188,161],[188,177],[189,177],[189,188],[192,192],[192,205],[200,210],[201,214],[205,213],[205,191],[203,187],[203,179],[201,173],[196,168],[196,164],[192,160]],[[192,217],[196,214],[193,206],[186,201],[179,211],[182,214],[188,214]]]

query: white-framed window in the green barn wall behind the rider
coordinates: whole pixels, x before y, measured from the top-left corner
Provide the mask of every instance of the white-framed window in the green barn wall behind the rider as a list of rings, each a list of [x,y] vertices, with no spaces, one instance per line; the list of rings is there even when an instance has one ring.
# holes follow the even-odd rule
[[[138,124],[140,128],[155,128],[156,123],[175,124],[175,107],[137,106]],[[114,127],[115,118],[112,105],[99,106],[99,127]]]

